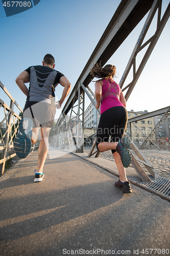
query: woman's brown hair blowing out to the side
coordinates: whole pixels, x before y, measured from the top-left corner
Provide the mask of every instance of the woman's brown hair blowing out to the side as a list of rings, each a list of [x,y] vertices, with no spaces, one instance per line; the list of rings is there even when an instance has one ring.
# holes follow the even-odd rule
[[[110,78],[114,79],[116,74],[116,67],[113,65],[106,65],[104,68],[101,67],[101,64],[95,63],[93,68],[90,69],[90,73],[93,77],[102,78],[109,80]]]

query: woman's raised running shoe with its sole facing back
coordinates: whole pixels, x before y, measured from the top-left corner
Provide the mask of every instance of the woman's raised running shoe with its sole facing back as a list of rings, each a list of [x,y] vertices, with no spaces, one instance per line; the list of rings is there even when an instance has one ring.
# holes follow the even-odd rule
[[[118,141],[116,146],[116,151],[120,155],[122,163],[126,168],[130,166],[131,160],[132,160],[132,157],[129,151],[130,144],[131,144],[130,139],[128,137],[123,137]]]

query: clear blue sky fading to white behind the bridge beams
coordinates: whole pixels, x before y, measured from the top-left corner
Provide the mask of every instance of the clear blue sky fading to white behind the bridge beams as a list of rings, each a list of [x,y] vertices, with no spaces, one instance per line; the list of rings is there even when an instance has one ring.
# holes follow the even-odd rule
[[[15,78],[29,66],[41,65],[46,53],[55,57],[55,68],[69,79],[74,88],[119,3],[120,0],[41,0],[26,12],[6,17],[0,2],[0,80],[21,108],[25,105],[26,96],[17,87]],[[163,0],[163,11],[168,3],[168,0]],[[108,61],[116,66],[117,83],[127,66],[145,19]],[[170,20],[127,102],[127,110],[154,111],[170,105],[169,25]],[[156,20],[151,32],[155,28]],[[90,83],[90,87],[93,89],[93,84]],[[61,93],[62,87],[59,85],[56,96],[60,98]],[[10,101],[2,90],[0,95],[9,105]],[[85,106],[88,104],[86,97]]]

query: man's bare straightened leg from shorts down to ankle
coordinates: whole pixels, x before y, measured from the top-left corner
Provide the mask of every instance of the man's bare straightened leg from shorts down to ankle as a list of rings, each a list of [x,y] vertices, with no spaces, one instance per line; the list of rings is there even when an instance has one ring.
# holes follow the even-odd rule
[[[46,156],[48,153],[48,135],[50,133],[51,128],[49,127],[41,127],[40,128],[40,145],[38,149],[38,165],[36,168],[37,173],[43,172],[43,166],[46,160]]]

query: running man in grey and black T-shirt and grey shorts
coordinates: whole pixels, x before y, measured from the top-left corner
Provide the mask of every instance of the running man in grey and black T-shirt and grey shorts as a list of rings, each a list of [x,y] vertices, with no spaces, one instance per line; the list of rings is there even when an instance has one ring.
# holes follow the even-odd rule
[[[54,57],[46,54],[42,66],[29,67],[15,80],[17,86],[27,96],[23,119],[19,122],[18,135],[14,140],[14,150],[18,156],[25,158],[29,154],[31,142],[32,145],[36,143],[39,126],[41,127],[34,182],[42,181],[44,177],[43,166],[48,152],[48,135],[56,114],[55,88],[59,83],[64,87],[57,108],[61,107],[71,88],[68,79],[54,67]],[[29,89],[25,85],[27,82],[30,82]],[[22,150],[23,147],[26,148],[25,151]]]

